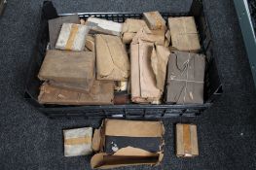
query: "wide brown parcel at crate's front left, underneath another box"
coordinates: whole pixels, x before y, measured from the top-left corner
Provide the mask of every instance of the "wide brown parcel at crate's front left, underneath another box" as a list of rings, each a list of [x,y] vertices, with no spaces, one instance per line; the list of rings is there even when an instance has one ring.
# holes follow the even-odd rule
[[[113,104],[112,82],[94,81],[90,92],[77,92],[58,88],[47,83],[41,86],[38,101],[41,104],[56,105],[108,105]]]

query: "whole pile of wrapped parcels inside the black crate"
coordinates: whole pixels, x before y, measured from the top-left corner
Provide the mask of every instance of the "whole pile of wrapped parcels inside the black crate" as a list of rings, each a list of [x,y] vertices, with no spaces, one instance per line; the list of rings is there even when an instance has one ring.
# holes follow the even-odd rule
[[[77,15],[50,19],[39,102],[203,103],[205,56],[197,53],[195,19],[169,17],[167,25],[159,12],[124,23]]]

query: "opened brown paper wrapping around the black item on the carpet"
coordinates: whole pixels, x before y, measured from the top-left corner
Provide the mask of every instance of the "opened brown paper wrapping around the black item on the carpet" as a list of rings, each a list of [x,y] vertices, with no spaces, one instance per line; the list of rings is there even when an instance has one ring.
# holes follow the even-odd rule
[[[151,129],[151,130],[148,130]],[[161,137],[165,134],[165,128],[162,121],[134,121],[134,120],[117,120],[117,119],[105,119],[100,128],[100,140],[95,140],[94,138],[99,138],[98,130],[97,135],[93,135],[93,141],[100,141],[100,153],[96,153],[91,158],[91,168],[99,169],[108,169],[121,166],[129,165],[158,165],[161,163],[164,151],[162,142],[159,146],[159,152],[150,153],[148,151],[126,147],[120,148],[116,153],[109,154],[104,153],[105,138],[109,136],[114,137],[139,137],[139,138],[148,138],[148,137]]]

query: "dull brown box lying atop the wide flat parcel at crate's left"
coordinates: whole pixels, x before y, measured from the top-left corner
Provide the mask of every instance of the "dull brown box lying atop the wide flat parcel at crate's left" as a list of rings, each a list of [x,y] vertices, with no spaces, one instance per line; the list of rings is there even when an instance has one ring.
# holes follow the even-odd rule
[[[47,51],[38,77],[41,81],[88,85],[90,89],[94,65],[91,51]]]

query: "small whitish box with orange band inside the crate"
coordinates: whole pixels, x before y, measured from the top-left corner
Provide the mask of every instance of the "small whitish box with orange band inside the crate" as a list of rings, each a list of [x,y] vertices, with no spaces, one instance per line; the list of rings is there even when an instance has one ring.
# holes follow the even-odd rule
[[[84,51],[90,27],[81,24],[63,23],[55,49],[64,51]]]

